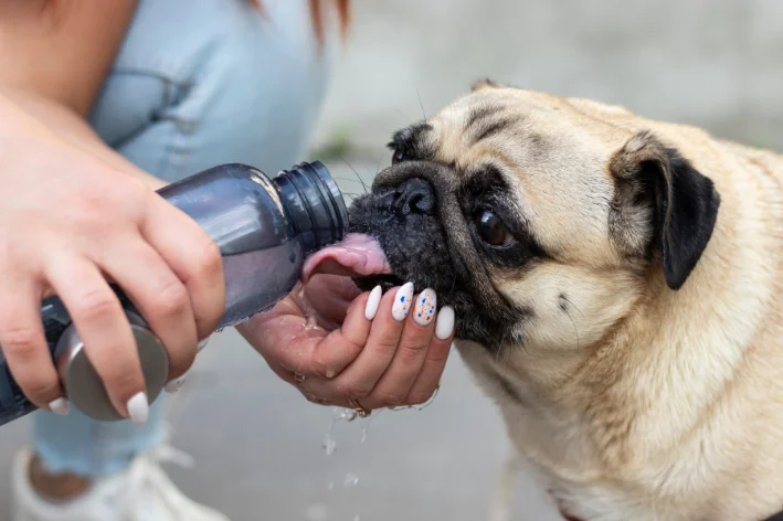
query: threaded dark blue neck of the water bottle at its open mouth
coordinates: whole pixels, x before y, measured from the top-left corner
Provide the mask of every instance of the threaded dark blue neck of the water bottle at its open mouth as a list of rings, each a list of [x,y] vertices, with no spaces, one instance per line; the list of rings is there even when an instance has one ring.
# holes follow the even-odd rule
[[[348,233],[348,209],[340,189],[320,161],[283,170],[273,182],[300,234],[305,255],[342,241]]]

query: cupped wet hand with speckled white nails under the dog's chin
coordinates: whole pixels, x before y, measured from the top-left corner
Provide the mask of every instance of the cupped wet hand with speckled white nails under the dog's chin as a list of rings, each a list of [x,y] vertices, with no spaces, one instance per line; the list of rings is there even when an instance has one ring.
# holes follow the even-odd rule
[[[436,311],[434,291],[414,297],[410,284],[359,295],[348,277],[315,275],[239,329],[311,402],[371,411],[435,393],[454,310]]]

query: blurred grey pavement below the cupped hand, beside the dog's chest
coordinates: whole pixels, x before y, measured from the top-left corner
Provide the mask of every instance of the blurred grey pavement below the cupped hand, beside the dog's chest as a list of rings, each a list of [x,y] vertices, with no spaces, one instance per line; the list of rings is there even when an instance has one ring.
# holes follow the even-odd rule
[[[176,397],[172,444],[197,467],[169,467],[171,476],[235,521],[482,520],[506,456],[494,406],[458,357],[430,407],[338,422],[331,455],[324,442],[332,411],[279,381],[234,331],[215,337]],[[10,469],[29,428],[25,418],[0,433],[0,469]],[[0,506],[8,493],[2,472]],[[541,501],[521,483],[516,508],[528,517],[518,519],[557,520],[539,513]]]

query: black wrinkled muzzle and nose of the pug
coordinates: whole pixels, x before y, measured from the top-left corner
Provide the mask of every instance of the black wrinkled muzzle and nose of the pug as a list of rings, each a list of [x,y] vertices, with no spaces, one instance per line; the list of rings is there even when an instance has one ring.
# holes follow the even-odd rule
[[[393,276],[357,278],[362,290],[411,281],[432,288],[437,305],[454,307],[456,337],[488,348],[512,338],[521,315],[489,283],[463,214],[449,167],[406,161],[381,172],[372,192],[353,201],[350,231],[375,237]]]

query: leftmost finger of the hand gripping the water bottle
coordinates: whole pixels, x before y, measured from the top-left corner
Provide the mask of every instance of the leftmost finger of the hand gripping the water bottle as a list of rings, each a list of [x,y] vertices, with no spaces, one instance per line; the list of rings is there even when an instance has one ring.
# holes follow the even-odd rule
[[[0,347],[24,395],[42,408],[67,413],[41,323],[41,289],[32,277],[10,275],[0,285]]]

